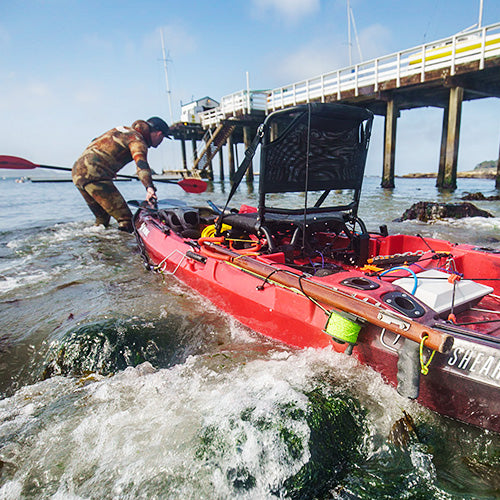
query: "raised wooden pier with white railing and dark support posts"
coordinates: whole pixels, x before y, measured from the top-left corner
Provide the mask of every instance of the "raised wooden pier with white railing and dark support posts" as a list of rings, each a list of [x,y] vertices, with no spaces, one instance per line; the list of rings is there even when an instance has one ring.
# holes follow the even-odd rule
[[[331,71],[272,90],[242,90],[224,96],[217,106],[198,114],[199,123],[173,125],[182,141],[193,143],[192,170],[213,177],[212,160],[228,148],[229,176],[235,169],[234,145],[249,145],[264,117],[277,109],[310,102],[339,102],[384,116],[382,187],[393,188],[397,119],[400,111],[419,107],[443,110],[437,187],[456,189],[457,158],[463,101],[500,97],[500,23],[458,33],[411,49]],[[196,141],[204,144],[201,151]],[[237,162],[237,158],[236,158]],[[248,180],[253,172],[249,170]],[[495,185],[500,188],[500,160]]]

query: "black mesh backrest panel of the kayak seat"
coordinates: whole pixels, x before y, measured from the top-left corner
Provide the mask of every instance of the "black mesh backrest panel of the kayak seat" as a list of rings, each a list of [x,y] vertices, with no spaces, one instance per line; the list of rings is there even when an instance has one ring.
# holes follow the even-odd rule
[[[261,201],[266,193],[360,190],[372,120],[363,108],[319,103],[269,115],[261,150]]]

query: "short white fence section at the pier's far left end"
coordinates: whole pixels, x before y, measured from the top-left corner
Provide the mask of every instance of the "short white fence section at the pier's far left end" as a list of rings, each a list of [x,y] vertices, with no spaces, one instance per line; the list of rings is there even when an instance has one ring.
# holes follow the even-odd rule
[[[240,90],[234,94],[224,96],[217,108],[200,113],[201,124],[204,128],[216,125],[238,113],[252,111],[266,111],[269,92],[266,90]]]

